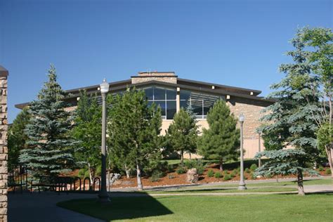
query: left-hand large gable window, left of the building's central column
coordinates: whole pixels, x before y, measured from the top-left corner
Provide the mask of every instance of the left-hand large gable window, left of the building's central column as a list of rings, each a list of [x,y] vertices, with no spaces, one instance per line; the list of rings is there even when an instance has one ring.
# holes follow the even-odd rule
[[[152,86],[143,89],[148,99],[148,105],[155,103],[162,110],[163,119],[174,119],[176,114],[176,89],[165,89],[159,86]]]

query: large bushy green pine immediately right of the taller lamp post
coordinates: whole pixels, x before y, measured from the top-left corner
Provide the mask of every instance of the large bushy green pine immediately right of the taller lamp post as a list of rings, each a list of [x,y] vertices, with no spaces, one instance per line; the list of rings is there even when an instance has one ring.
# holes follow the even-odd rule
[[[108,120],[109,154],[122,167],[136,169],[138,190],[143,190],[141,176],[145,166],[159,162],[160,108],[148,107],[144,91],[128,89],[112,99]]]

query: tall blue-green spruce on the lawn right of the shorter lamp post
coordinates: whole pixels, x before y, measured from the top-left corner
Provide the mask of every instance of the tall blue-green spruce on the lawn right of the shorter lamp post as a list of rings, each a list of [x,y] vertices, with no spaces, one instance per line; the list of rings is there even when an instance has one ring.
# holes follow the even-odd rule
[[[292,39],[294,51],[287,52],[292,56],[294,63],[282,64],[280,71],[286,74],[285,78],[278,84],[273,84],[271,89],[275,90],[268,98],[274,98],[275,103],[266,107],[266,115],[261,119],[266,122],[261,126],[263,138],[271,150],[270,156],[288,157],[287,150],[281,150],[292,146],[300,150],[300,153],[294,158],[293,167],[297,166],[297,178],[299,184],[299,194],[303,192],[303,169],[306,169],[309,162],[315,162],[318,159],[318,148],[315,137],[315,131],[318,126],[315,124],[315,118],[311,114],[309,104],[317,103],[318,97],[308,97],[315,85],[315,78],[311,76],[312,64],[308,60],[308,52],[304,51],[305,44],[301,39],[301,30]],[[279,157],[279,158],[280,158]],[[273,160],[272,160],[273,161]],[[259,171],[271,171],[273,169],[264,164]],[[273,164],[276,168],[282,167],[281,164]]]

